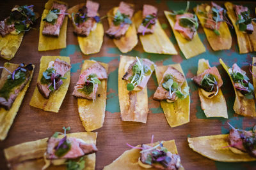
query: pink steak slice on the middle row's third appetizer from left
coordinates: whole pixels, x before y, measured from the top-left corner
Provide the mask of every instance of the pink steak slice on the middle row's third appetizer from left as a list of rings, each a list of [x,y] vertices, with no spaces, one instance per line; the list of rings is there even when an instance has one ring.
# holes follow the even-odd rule
[[[101,64],[99,64],[99,62],[96,62],[91,67],[84,70],[82,74],[80,74],[79,80],[77,81],[76,86],[74,87],[74,92],[72,94],[73,96],[83,97],[85,99],[93,101],[96,99],[98,84],[95,84],[94,90],[90,94],[86,94],[86,92],[83,91],[83,88],[85,88],[85,86],[92,85],[92,83],[86,82],[90,74],[96,74],[96,77],[99,80],[104,80],[108,78],[106,69]]]

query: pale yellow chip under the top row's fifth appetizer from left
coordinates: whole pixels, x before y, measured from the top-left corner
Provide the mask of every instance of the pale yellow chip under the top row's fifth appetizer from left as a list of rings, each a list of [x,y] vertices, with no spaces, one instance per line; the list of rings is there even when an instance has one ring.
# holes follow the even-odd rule
[[[143,20],[142,11],[138,11],[134,15],[134,23],[136,28],[140,27]],[[148,53],[164,53],[177,55],[173,43],[170,41],[166,33],[163,31],[159,20],[156,20],[156,27],[153,34],[140,34],[140,41],[145,52]]]

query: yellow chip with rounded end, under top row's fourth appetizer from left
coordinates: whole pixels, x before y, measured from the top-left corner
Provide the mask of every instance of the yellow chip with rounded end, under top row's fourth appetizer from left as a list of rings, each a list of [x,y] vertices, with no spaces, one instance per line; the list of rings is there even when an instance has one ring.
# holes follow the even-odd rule
[[[117,9],[118,7],[112,8],[112,10],[108,11],[107,15],[114,16],[115,15],[114,11],[116,11]],[[112,20],[113,20],[113,17],[108,17],[109,25],[111,24]],[[120,39],[113,39],[115,45],[122,53],[130,52],[134,48],[134,46],[136,46],[138,43],[137,31],[134,25],[134,17],[132,17],[131,20],[132,20],[132,24],[130,25],[125,35],[122,36]]]

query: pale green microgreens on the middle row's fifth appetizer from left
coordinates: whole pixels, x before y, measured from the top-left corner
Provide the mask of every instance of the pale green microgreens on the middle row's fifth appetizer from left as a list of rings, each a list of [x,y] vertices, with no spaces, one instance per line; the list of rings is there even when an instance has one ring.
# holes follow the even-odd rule
[[[176,81],[174,81],[173,76],[171,74],[166,74],[164,76],[162,86],[165,90],[169,91],[170,99],[172,99],[173,94],[176,94],[176,96],[179,99],[185,99],[189,94],[189,87],[184,87],[182,92],[181,87],[179,87],[179,84]]]

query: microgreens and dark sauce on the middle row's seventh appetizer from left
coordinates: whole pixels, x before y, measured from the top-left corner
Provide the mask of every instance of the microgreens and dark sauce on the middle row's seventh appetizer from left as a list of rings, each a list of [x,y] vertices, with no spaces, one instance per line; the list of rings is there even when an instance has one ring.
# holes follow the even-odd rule
[[[247,99],[253,99],[254,88],[245,72],[234,71],[232,68],[228,69],[228,72],[230,73],[234,83],[239,83],[239,86],[235,85],[236,89],[239,90]]]

